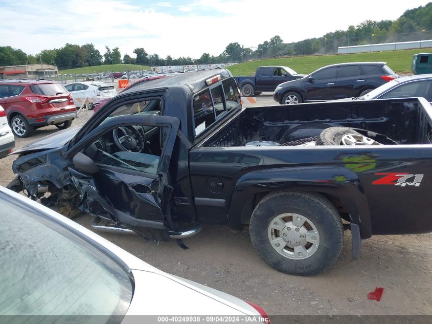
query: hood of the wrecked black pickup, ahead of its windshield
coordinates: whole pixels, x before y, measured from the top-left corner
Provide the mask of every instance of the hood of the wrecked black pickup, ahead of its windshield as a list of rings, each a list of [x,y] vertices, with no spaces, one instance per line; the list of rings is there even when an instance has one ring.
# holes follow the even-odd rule
[[[63,131],[44,136],[32,143],[21,146],[21,148],[14,150],[12,154],[20,154],[22,152],[37,152],[51,148],[59,148],[69,142],[75,134],[78,133],[82,126],[76,126],[64,129]]]

